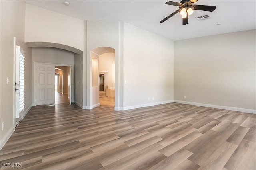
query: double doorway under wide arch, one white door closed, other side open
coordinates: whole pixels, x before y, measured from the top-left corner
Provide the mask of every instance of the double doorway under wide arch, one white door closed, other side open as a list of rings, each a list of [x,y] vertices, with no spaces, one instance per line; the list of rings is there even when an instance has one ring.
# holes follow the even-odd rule
[[[70,104],[74,102],[72,65],[35,63],[34,102],[42,104]]]

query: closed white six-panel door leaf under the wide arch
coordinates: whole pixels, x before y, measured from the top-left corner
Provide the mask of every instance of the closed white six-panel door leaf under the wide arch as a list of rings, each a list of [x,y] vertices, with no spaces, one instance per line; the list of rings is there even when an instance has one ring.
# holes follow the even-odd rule
[[[36,64],[36,105],[55,103],[55,66]]]

